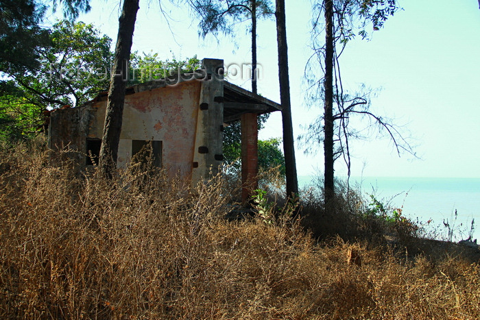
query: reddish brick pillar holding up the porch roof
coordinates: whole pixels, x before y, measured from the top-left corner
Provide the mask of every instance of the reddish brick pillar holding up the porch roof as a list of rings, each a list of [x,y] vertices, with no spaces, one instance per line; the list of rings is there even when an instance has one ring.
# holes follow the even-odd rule
[[[259,130],[255,113],[241,115],[241,200],[245,204],[259,182]]]

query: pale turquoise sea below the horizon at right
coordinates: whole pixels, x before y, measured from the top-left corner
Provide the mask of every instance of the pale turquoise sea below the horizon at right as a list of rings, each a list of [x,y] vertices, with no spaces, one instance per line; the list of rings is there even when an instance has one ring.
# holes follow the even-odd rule
[[[298,177],[300,188],[316,181]],[[433,238],[460,241],[472,236],[480,244],[480,178],[350,177],[349,185],[367,200],[374,195],[390,208],[401,208],[403,216],[418,221]]]

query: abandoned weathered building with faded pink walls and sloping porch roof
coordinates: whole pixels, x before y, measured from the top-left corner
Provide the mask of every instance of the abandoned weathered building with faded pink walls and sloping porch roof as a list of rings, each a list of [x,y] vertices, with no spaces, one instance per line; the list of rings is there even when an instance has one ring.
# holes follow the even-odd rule
[[[243,197],[254,188],[258,173],[256,116],[281,110],[280,105],[223,79],[224,61],[202,60],[197,75],[154,80],[126,89],[117,167],[152,141],[155,162],[174,177],[196,183],[218,169],[223,160],[224,126],[241,121]],[[51,113],[49,146],[79,151],[82,166],[98,156],[104,130],[107,94],[79,108]],[[250,187],[246,187],[250,186]]]

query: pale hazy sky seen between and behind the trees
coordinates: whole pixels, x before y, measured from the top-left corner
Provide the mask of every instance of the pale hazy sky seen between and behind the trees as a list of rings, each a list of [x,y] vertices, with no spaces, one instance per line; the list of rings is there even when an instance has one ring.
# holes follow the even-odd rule
[[[166,1],[163,1],[166,2]],[[403,11],[391,17],[372,40],[350,42],[341,57],[344,83],[381,88],[372,110],[396,119],[413,137],[420,160],[398,158],[388,140],[352,143],[352,175],[392,177],[480,177],[480,10],[477,0],[400,0]],[[119,1],[93,0],[92,12],[79,21],[93,23],[117,40]],[[133,48],[158,53],[160,59],[221,58],[225,64],[251,62],[249,23],[239,25],[237,38],[205,40],[197,36],[197,21],[184,7],[164,5],[169,25],[157,1],[143,1],[137,16]],[[305,108],[304,67],[310,56],[311,2],[286,0],[287,43],[293,130],[303,132],[322,110]],[[53,21],[53,17],[51,18]],[[173,32],[173,34],[172,34]],[[279,102],[276,29],[273,20],[258,27],[258,61],[263,68],[259,93]],[[319,75],[321,77],[321,75]],[[250,90],[248,80],[232,81]],[[260,138],[281,136],[281,115],[272,114]],[[322,172],[323,150],[305,156],[296,147],[298,175]],[[337,175],[345,175],[338,161]]]

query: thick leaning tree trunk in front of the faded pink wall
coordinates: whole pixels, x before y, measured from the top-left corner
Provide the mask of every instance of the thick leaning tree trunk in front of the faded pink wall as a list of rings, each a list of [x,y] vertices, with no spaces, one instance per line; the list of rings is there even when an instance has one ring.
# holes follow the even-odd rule
[[[123,8],[119,18],[119,33],[115,60],[108,90],[107,109],[104,123],[104,136],[101,141],[99,169],[112,177],[117,167],[117,154],[121,123],[123,118],[123,103],[125,102],[125,84],[128,80],[128,61],[132,49],[132,38],[136,21],[136,12],[139,10],[139,0],[123,0]]]

